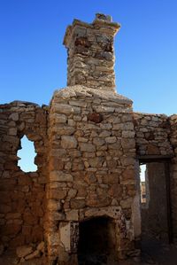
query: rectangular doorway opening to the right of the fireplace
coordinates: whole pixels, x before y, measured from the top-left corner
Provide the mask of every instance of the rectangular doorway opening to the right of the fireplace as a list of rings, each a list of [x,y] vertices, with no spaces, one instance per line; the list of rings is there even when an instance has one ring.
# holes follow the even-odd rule
[[[169,181],[167,161],[140,161],[142,238],[172,241]]]

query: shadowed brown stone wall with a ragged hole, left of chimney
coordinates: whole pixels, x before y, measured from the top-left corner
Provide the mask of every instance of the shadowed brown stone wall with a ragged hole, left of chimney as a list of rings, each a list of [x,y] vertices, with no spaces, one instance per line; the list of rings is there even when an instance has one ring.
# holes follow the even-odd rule
[[[0,241],[15,247],[42,241],[47,174],[48,108],[14,101],[0,105]],[[34,142],[36,172],[18,167],[20,139]]]

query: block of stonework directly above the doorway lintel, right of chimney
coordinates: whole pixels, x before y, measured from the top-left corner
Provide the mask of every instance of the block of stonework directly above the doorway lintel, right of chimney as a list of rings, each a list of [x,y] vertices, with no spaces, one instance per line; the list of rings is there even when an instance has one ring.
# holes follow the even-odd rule
[[[164,114],[133,113],[136,153],[145,155],[172,155],[170,121]]]

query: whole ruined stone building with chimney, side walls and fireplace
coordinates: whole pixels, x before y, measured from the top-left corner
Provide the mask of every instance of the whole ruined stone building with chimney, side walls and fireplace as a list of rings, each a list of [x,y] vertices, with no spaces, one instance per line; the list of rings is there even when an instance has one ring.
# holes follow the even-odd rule
[[[139,253],[142,233],[177,241],[177,115],[135,113],[116,93],[119,27],[103,14],[91,24],[74,19],[64,39],[67,87],[49,106],[0,105],[4,250],[44,241],[45,264],[118,264]],[[18,166],[22,136],[35,144],[36,172]]]

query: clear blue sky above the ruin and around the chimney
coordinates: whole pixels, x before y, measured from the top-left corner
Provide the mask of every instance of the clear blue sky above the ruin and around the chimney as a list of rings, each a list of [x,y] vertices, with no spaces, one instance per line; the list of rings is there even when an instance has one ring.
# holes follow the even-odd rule
[[[135,111],[177,113],[176,0],[1,0],[0,102],[50,102],[66,84],[65,28],[96,12],[121,24],[117,91]]]

